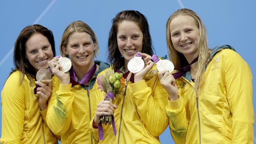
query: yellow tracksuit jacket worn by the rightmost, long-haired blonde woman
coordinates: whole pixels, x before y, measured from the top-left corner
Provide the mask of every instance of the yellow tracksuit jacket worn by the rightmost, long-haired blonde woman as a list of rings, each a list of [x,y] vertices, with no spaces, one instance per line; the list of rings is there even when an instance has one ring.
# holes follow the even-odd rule
[[[198,97],[188,72],[176,79],[180,98],[166,108],[176,144],[253,143],[252,74],[240,55],[225,48],[213,50]]]

